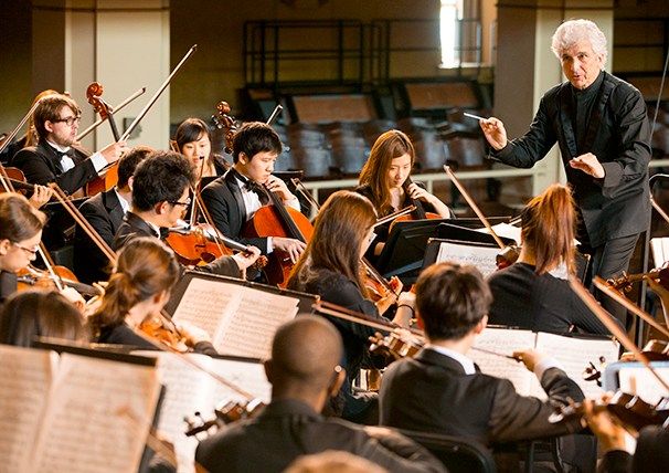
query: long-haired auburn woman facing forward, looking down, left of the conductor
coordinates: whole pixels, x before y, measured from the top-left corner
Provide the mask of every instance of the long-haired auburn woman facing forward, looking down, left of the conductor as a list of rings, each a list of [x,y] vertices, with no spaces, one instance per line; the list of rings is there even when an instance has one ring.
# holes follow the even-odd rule
[[[372,146],[370,157],[360,171],[360,186],[355,191],[371,200],[379,217],[385,217],[417,201],[420,207],[424,207],[423,213],[426,211],[443,219],[450,218],[450,209],[444,202],[411,181],[415,159],[416,151],[408,136],[397,129],[385,132]],[[376,228],[373,255],[381,253],[389,228],[390,224]],[[369,255],[372,256],[371,252]]]

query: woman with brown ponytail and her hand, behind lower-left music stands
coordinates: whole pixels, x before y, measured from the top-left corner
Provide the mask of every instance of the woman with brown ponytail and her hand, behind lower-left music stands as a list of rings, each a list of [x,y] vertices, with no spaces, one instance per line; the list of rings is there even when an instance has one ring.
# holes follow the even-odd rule
[[[160,317],[180,274],[181,267],[174,253],[158,239],[140,236],[124,246],[118,253],[117,267],[109,278],[102,303],[88,317],[95,340],[156,349],[153,344],[136,334],[136,329]],[[204,330],[192,326],[176,328],[169,334],[174,339],[169,341],[174,345],[183,341],[194,351],[216,355]],[[178,339],[180,336],[182,340]]]

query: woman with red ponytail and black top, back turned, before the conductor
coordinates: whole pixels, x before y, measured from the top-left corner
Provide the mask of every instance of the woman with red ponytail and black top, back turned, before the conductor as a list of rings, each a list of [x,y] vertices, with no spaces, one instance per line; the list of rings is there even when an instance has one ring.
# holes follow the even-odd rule
[[[574,200],[565,186],[553,185],[528,203],[518,261],[488,278],[493,297],[489,324],[608,335],[566,281],[567,274],[574,274],[575,219]]]

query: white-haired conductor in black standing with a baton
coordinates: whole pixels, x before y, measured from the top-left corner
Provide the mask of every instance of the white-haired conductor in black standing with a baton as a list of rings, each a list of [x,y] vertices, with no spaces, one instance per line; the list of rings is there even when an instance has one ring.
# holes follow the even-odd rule
[[[555,143],[581,211],[576,236],[592,253],[593,275],[627,271],[639,234],[648,228],[650,127],[646,103],[630,84],[603,70],[606,38],[588,20],[570,20],[553,35],[552,50],[567,82],[545,93],[530,129],[507,140],[502,122],[480,120],[492,156],[531,168]],[[625,313],[603,299],[624,322]]]

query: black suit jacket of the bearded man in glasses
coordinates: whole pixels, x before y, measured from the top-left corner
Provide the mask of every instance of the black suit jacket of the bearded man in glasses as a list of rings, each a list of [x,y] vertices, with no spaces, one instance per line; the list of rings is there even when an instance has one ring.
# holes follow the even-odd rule
[[[56,182],[65,193],[73,193],[97,177],[97,172],[88,156],[81,149],[75,149],[72,158],[74,168],[63,172],[61,168],[62,154],[41,139],[38,146],[21,149],[13,157],[11,166],[23,171],[31,183],[47,185]]]

